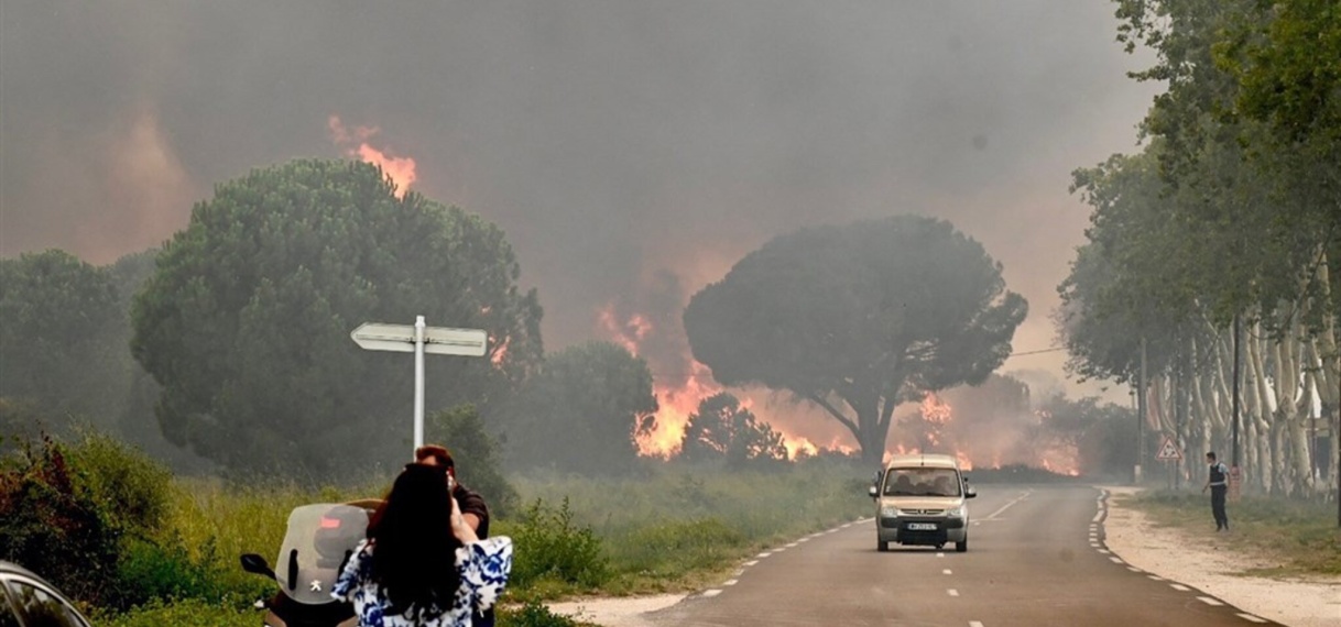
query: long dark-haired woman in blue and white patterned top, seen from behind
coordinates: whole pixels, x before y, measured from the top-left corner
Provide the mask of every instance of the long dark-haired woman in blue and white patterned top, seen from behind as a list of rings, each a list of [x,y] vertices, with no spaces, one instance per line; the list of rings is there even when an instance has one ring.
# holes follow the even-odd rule
[[[469,627],[507,584],[512,540],[480,540],[448,481],[441,466],[408,464],[373,514],[331,589],[361,627]]]

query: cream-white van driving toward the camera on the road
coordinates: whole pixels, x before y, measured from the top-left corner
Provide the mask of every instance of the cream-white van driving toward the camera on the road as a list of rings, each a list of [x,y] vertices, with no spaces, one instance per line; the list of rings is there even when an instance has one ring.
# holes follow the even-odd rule
[[[889,543],[968,551],[968,498],[978,493],[951,456],[894,456],[876,476],[876,549]]]

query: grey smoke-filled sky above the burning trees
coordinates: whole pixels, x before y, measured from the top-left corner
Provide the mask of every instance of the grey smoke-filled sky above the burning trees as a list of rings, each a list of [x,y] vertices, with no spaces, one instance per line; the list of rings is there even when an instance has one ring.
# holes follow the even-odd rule
[[[1133,150],[1152,95],[1124,75],[1140,62],[1112,13],[1101,0],[5,0],[0,255],[107,263],[157,245],[216,182],[341,155],[338,115],[414,158],[414,189],[507,230],[551,348],[603,336],[602,308],[697,291],[782,232],[892,213],[979,238],[1030,300],[1016,350],[1046,348],[1088,216],[1069,173]]]

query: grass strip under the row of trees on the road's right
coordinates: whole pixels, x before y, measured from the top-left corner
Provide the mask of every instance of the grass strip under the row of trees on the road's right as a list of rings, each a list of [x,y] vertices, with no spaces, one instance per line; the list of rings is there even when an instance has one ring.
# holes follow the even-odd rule
[[[1211,497],[1187,492],[1145,492],[1129,500],[1153,522],[1214,535]],[[1277,565],[1246,575],[1341,575],[1341,528],[1334,502],[1243,496],[1227,506],[1230,535],[1222,545]]]

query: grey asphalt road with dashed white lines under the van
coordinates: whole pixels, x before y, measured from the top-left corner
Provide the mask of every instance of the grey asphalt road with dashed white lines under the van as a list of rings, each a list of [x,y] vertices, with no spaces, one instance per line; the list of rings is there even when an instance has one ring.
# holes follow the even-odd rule
[[[687,627],[1278,624],[1109,553],[1097,489],[978,490],[967,553],[897,544],[878,553],[868,518],[762,553],[735,579],[648,618]]]

